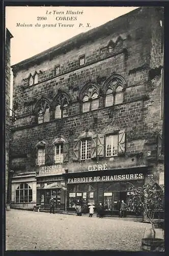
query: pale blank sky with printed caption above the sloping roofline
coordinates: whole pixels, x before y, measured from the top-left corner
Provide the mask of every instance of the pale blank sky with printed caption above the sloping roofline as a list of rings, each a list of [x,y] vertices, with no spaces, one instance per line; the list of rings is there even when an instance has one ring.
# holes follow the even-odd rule
[[[138,7],[7,6],[6,28],[13,35],[11,66],[136,8]],[[12,84],[11,72],[11,109]]]

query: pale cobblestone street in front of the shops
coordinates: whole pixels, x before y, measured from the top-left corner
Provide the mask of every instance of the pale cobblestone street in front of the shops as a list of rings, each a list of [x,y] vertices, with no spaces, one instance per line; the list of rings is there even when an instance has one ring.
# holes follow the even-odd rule
[[[149,224],[10,210],[6,212],[6,250],[140,250]]]

